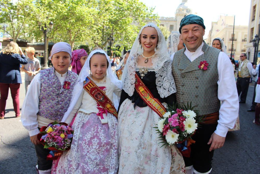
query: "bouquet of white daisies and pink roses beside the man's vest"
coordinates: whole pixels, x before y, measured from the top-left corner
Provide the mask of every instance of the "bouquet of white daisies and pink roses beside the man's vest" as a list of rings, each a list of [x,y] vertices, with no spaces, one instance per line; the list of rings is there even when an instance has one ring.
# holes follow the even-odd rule
[[[176,111],[166,112],[154,128],[159,133],[158,138],[161,141],[159,143],[162,143],[162,146],[176,144],[184,157],[190,157],[190,145],[195,143],[191,137],[198,128],[198,122],[198,117],[193,110],[176,109]]]

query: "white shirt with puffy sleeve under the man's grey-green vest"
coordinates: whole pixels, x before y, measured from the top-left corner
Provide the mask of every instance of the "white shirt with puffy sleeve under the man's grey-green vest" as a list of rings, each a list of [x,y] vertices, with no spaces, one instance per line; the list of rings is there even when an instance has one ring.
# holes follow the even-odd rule
[[[184,54],[194,61],[202,55],[202,45],[195,51],[190,52],[187,48]],[[171,56],[173,59],[174,54]],[[219,109],[219,120],[215,133],[219,136],[226,137],[228,129],[232,129],[238,117],[239,102],[237,87],[234,79],[234,69],[229,57],[222,51],[218,55],[218,99],[221,101]]]

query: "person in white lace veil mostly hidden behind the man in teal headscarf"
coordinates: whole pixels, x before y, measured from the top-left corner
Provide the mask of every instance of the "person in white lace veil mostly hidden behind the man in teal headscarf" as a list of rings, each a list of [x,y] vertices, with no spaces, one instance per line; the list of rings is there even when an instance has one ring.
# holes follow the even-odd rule
[[[167,48],[169,55],[171,56],[173,53],[177,52],[180,49],[184,48],[183,41],[181,39],[181,35],[179,31],[172,31],[167,41]],[[173,58],[173,57],[171,57]]]

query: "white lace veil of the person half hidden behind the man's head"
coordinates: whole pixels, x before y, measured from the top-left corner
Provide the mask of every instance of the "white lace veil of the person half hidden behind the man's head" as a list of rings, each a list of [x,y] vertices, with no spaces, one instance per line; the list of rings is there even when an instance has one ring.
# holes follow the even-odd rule
[[[173,53],[178,51],[178,45],[180,42],[180,32],[172,31],[170,36],[168,37],[166,43],[168,45],[168,52],[171,56]]]

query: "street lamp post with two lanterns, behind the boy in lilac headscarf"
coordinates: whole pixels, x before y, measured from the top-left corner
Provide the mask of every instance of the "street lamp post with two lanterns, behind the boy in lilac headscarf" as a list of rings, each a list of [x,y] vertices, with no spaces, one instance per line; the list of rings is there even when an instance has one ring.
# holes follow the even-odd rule
[[[38,21],[38,26],[39,26],[39,29],[41,31],[43,31],[43,33],[44,33],[44,65],[43,65],[42,69],[47,69],[47,68],[49,68],[48,64],[47,64],[47,62],[48,62],[47,33],[49,31],[51,31],[51,29],[53,28],[53,22],[50,21],[49,28],[48,28],[46,23],[44,24],[44,26],[42,26],[42,23],[40,21]]]

